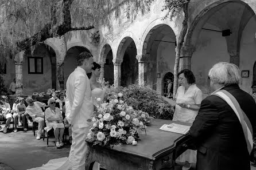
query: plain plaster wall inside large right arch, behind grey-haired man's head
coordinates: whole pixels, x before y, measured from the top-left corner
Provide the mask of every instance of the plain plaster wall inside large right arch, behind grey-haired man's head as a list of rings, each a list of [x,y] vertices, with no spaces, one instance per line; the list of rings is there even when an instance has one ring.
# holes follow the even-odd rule
[[[209,23],[205,24],[204,28],[219,30]],[[214,64],[221,61],[230,61],[226,39],[222,37],[222,33],[202,30],[192,56],[191,70],[196,77],[198,88],[203,92],[203,97],[208,96],[211,91],[208,72]]]

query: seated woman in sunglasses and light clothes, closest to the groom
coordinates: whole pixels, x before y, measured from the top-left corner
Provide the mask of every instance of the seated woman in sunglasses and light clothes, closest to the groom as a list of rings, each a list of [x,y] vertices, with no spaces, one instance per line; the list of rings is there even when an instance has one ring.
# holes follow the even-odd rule
[[[56,139],[56,147],[60,148],[63,146],[62,137],[64,134],[64,124],[63,117],[59,108],[55,107],[56,100],[54,98],[50,98],[48,100],[49,108],[45,110],[45,122],[46,122],[46,132],[50,131],[52,128],[54,129],[54,135]]]

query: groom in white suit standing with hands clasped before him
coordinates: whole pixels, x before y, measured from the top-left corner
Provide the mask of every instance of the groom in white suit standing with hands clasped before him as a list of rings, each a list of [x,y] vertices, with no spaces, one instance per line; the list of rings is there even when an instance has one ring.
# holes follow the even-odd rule
[[[67,98],[65,99],[65,116],[72,125],[72,145],[69,152],[69,163],[72,170],[84,170],[88,147],[86,136],[91,128],[93,102],[90,81],[86,73],[90,73],[94,58],[88,52],[77,56],[77,68],[67,80]]]

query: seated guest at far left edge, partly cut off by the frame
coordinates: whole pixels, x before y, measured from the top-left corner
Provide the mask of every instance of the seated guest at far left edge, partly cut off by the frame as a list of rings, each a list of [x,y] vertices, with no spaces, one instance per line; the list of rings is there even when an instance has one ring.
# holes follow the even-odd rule
[[[1,102],[2,102],[1,110],[2,110],[2,113],[0,113],[0,120],[1,121],[5,121],[5,127],[2,128],[0,126],[0,132],[3,132],[3,133],[7,133],[7,127],[10,124],[11,117],[12,117],[11,113],[10,113],[11,106],[10,106],[9,103],[6,102],[6,100],[7,100],[7,98],[5,96],[1,97]]]

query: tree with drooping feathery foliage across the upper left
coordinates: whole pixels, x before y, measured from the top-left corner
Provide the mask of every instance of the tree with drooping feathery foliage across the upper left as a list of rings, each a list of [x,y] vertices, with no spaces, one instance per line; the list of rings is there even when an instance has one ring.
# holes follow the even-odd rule
[[[47,38],[110,24],[126,8],[129,18],[150,9],[152,0],[1,0],[0,51],[29,49]],[[33,49],[33,48],[32,48]],[[33,51],[33,50],[32,50]]]

